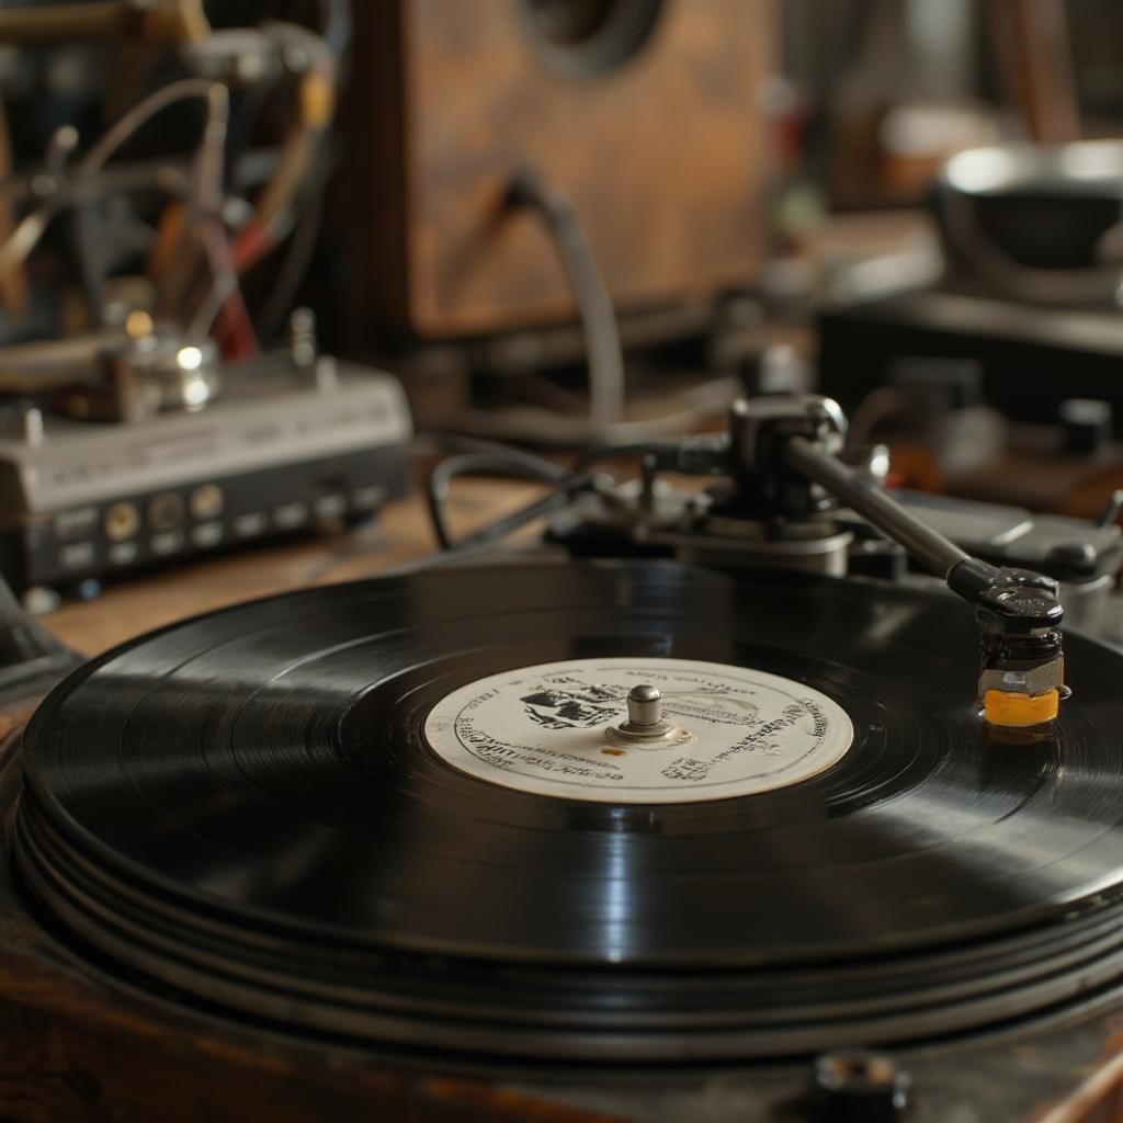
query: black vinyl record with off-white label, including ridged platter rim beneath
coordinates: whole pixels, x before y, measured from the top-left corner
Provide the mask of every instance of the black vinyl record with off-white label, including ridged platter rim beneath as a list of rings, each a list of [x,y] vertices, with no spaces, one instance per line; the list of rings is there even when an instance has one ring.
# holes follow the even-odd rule
[[[309,590],[145,637],[26,737],[29,888],[185,998],[582,1061],[900,1042],[1123,976],[1123,657],[1003,743],[951,596],[670,564]],[[631,685],[666,738],[613,733]]]

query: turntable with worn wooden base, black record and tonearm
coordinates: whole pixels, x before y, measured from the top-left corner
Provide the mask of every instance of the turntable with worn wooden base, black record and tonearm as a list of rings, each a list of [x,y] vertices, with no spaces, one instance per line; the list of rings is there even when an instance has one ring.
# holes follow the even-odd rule
[[[819,513],[853,482],[830,409],[748,413]],[[1123,655],[1062,661],[1056,582],[847,499],[974,618],[492,563],[70,675],[6,774],[2,1114],[1106,1117]]]

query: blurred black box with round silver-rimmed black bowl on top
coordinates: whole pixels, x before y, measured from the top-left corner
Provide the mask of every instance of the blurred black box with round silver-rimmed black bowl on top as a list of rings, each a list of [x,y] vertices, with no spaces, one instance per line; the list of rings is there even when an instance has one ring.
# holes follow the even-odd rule
[[[931,285],[842,296],[821,314],[822,385],[855,403],[902,358],[979,365],[1008,417],[1121,401],[1123,143],[968,149],[933,185],[948,266]]]

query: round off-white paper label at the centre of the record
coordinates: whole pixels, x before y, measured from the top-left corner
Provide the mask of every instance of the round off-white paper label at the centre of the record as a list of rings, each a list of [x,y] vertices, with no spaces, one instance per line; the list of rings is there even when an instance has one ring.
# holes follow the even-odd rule
[[[666,737],[613,730],[640,684],[663,695]],[[694,803],[770,792],[842,758],[853,725],[832,699],[764,670],[694,659],[572,659],[476,679],[426,719],[448,764],[493,784],[600,803]]]

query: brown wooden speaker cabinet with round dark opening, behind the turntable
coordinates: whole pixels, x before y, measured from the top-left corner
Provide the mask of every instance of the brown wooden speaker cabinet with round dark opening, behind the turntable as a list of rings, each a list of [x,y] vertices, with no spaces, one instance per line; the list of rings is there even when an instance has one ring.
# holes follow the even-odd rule
[[[763,254],[770,0],[355,4],[341,176],[349,320],[451,338],[573,314],[532,167],[617,307],[705,300]]]

